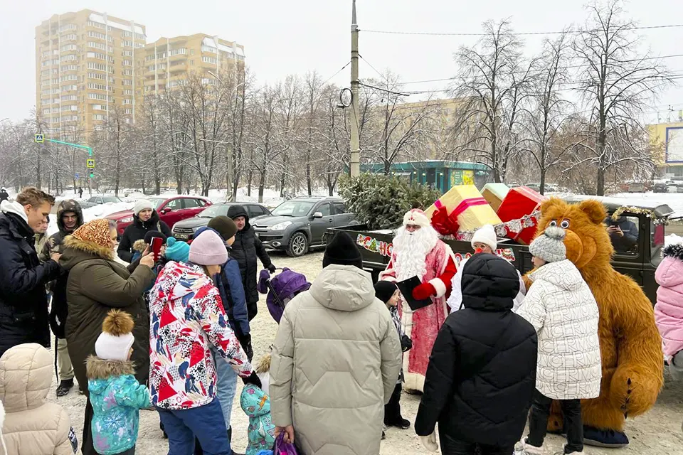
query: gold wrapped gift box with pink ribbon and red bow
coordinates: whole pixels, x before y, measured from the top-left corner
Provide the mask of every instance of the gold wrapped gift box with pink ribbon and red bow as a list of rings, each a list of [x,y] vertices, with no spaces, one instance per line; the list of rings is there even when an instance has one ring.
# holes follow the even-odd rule
[[[432,217],[436,210],[445,210],[451,225],[458,230],[474,230],[483,225],[497,225],[500,218],[474,185],[451,188],[426,210]],[[442,212],[443,213],[443,212]]]

